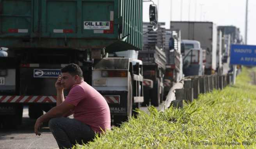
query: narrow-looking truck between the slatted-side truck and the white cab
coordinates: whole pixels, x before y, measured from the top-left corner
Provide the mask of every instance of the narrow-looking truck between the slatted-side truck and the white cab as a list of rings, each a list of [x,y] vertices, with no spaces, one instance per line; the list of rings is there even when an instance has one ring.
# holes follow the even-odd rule
[[[174,83],[183,78],[180,30],[165,30],[165,55],[164,99]]]

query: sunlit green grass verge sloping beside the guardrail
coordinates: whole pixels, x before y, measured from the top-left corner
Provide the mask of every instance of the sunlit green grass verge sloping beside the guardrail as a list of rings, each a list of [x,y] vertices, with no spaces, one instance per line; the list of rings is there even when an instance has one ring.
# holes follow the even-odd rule
[[[149,114],[138,110],[137,119],[74,148],[256,148],[256,85],[250,84],[251,71],[244,67],[236,85],[200,94],[183,109],[158,112],[150,106]]]

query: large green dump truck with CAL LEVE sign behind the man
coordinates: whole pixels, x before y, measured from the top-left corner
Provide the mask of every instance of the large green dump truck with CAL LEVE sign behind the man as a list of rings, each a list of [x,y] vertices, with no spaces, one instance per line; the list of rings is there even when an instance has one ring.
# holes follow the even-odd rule
[[[69,63],[78,64],[85,82],[106,99],[112,124],[128,119],[144,101],[142,63],[108,53],[142,50],[142,4],[1,0],[0,45],[9,49],[8,57],[0,57],[1,123],[20,124],[24,105],[32,119],[55,106],[54,83]],[[156,24],[156,5],[149,9]]]

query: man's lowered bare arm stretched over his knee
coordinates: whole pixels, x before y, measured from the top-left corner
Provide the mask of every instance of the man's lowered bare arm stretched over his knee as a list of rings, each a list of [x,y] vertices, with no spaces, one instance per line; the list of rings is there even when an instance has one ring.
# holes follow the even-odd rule
[[[71,109],[75,108],[74,105],[63,102],[58,106],[53,107],[50,111],[48,111],[46,114],[42,115],[36,120],[36,124],[34,127],[34,131],[36,135],[41,135],[38,133],[38,129],[41,126],[42,122],[49,121],[51,118],[54,117],[61,117],[62,115],[66,114],[67,112],[70,112]]]

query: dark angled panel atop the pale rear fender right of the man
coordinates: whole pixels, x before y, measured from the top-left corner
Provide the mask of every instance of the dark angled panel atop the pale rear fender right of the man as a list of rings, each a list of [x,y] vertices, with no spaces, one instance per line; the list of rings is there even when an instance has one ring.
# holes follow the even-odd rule
[[[127,70],[129,66],[129,59],[125,58],[104,58],[100,60],[94,69],[123,69]]]

